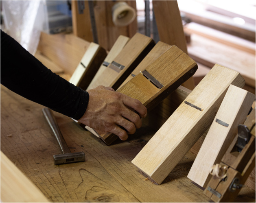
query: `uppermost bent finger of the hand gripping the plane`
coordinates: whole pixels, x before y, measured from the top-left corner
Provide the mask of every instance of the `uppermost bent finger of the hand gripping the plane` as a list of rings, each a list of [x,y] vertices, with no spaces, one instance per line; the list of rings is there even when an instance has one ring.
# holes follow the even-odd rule
[[[147,108],[140,102],[140,100],[124,95],[123,103],[137,111],[140,118],[145,118],[147,116]]]

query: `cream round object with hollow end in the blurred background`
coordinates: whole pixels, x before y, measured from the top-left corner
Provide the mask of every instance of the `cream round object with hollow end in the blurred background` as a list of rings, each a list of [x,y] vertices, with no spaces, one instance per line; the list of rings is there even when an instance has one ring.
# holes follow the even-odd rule
[[[131,24],[136,18],[136,11],[126,2],[120,1],[112,7],[113,23],[118,27]]]

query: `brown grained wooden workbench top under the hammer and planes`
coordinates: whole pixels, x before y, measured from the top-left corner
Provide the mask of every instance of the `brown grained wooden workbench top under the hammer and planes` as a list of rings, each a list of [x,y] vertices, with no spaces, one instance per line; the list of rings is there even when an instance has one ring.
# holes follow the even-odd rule
[[[142,127],[126,142],[106,146],[70,118],[55,113],[71,152],[86,162],[55,166],[60,154],[43,106],[0,85],[0,150],[53,202],[208,202],[188,175],[195,155],[187,153],[161,185],[138,172],[131,160],[154,135]],[[237,202],[255,202],[255,192],[241,190]]]

